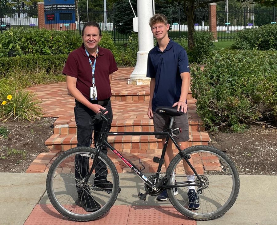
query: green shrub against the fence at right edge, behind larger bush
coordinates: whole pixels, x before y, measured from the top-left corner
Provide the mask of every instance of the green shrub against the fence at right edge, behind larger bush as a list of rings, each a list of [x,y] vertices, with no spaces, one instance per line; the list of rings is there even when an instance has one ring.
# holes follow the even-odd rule
[[[254,29],[238,31],[233,49],[277,50],[277,26],[267,24]]]

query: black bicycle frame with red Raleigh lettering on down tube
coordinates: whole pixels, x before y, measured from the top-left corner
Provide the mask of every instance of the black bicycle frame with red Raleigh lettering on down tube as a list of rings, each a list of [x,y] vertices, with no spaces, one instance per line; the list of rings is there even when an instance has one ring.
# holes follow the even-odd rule
[[[102,118],[105,118],[105,117],[102,116]],[[181,182],[181,183],[179,182],[178,184],[176,183],[175,185],[164,185],[163,182],[167,179],[170,179],[172,175],[168,175],[166,177],[163,177],[163,179],[159,180],[159,175],[160,175],[160,171],[161,171],[161,168],[162,168],[162,165],[163,165],[163,162],[164,162],[164,156],[165,156],[165,152],[166,152],[166,149],[167,149],[167,144],[168,144],[169,138],[175,144],[175,146],[179,150],[180,154],[183,156],[186,163],[189,165],[191,170],[194,172],[195,176],[199,179],[199,181],[202,180],[199,177],[198,173],[196,172],[195,168],[193,168],[193,166],[189,162],[188,156],[182,152],[181,148],[179,148],[178,144],[173,139],[172,134],[173,134],[174,131],[172,129],[172,124],[174,122],[174,119],[175,119],[175,117],[171,117],[171,122],[170,122],[169,128],[167,129],[167,131],[164,131],[164,132],[106,132],[107,128],[105,128],[105,131],[101,134],[100,141],[98,142],[97,152],[94,156],[94,162],[97,161],[101,146],[104,145],[104,146],[110,148],[110,150],[112,152],[114,152],[114,154],[117,155],[119,159],[121,159],[135,174],[137,174],[151,188],[153,188],[154,186],[155,186],[155,188],[178,188],[178,187],[195,186],[196,184],[190,184],[190,183],[192,183],[191,181],[184,181],[184,182]],[[106,119],[106,121],[107,121],[107,119]],[[152,184],[152,182],[149,181],[146,176],[144,176],[144,174],[139,170],[139,168],[137,168],[134,164],[132,164],[129,160],[127,160],[124,156],[122,156],[113,146],[111,146],[105,140],[106,136],[125,136],[125,135],[129,135],[129,136],[130,135],[138,135],[138,136],[164,135],[164,136],[166,136],[166,140],[165,140],[165,143],[164,143],[164,146],[163,146],[163,151],[162,151],[162,155],[161,155],[161,158],[160,158],[158,170],[156,172],[156,178],[157,178],[156,180],[157,181],[159,180],[159,182],[157,184]],[[94,169],[94,163],[92,165],[92,168],[91,168],[91,171],[90,171],[88,177],[90,177],[93,169]],[[88,177],[87,177],[87,179],[88,179]]]

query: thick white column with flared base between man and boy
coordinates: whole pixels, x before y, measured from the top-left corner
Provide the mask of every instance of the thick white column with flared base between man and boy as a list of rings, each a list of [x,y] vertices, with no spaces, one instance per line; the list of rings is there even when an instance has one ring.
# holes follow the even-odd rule
[[[139,25],[139,51],[134,71],[128,79],[128,84],[144,85],[150,83],[146,77],[148,52],[154,47],[153,34],[149,26],[149,20],[153,15],[151,0],[137,0],[138,25]]]

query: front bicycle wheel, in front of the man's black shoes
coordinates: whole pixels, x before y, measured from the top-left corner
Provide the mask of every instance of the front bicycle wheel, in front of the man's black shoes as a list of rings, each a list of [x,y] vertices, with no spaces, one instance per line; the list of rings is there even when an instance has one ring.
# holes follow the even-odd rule
[[[54,160],[47,175],[46,190],[50,202],[58,212],[74,221],[90,221],[102,216],[112,207],[118,195],[119,177],[117,170],[112,161],[102,152],[99,153],[97,161],[97,164],[100,163],[102,168],[101,174],[99,175],[98,172],[99,176],[95,176],[94,170],[88,182],[81,186],[84,177],[78,178],[78,174],[88,174],[94,161],[95,152],[95,148],[71,148]],[[99,183],[97,178],[101,176],[102,179],[103,174],[112,184],[112,188],[108,190],[110,193],[103,187],[99,188],[99,185],[95,186],[94,179],[98,180]],[[82,205],[87,205],[87,201],[80,205],[80,199],[87,199],[88,195],[92,196],[90,199],[93,199],[94,203],[100,204],[100,209],[97,210],[96,208],[96,211],[91,212],[86,211]]]

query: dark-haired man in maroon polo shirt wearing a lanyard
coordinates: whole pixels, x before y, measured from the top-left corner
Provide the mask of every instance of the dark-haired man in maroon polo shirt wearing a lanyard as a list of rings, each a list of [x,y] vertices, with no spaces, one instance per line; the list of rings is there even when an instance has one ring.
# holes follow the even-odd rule
[[[110,83],[113,72],[118,68],[111,51],[98,46],[101,37],[99,25],[95,22],[87,22],[82,30],[82,46],[69,54],[62,71],[66,74],[67,89],[75,98],[77,146],[90,146],[92,136],[90,120],[100,109],[107,110],[106,117],[110,118],[109,129],[113,119]],[[94,124],[94,140],[98,140],[102,126],[106,126],[105,121]],[[107,154],[106,148],[101,148],[101,151]],[[92,212],[97,211],[101,206],[91,196],[90,188],[81,188],[79,185],[89,171],[88,160],[86,156],[75,157],[75,179],[78,192],[76,204]],[[98,191],[111,194],[113,186],[107,180],[107,167],[101,160],[95,168],[93,187]]]

